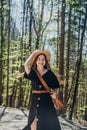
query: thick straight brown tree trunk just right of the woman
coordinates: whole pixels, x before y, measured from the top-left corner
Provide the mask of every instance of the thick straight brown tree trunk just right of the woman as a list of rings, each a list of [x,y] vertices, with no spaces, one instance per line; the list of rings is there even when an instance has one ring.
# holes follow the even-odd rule
[[[63,81],[64,75],[64,36],[65,36],[65,2],[62,1],[62,14],[61,14],[61,38],[60,38],[60,61],[59,61],[59,75],[60,81]],[[60,85],[60,98],[63,100],[63,84]]]

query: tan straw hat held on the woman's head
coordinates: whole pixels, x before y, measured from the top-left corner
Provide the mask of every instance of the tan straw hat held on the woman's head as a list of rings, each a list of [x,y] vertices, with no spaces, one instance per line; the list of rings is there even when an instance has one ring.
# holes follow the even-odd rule
[[[32,66],[36,57],[40,54],[44,54],[47,57],[47,60],[50,61],[51,53],[47,50],[35,50],[29,57],[28,57],[28,65]]]

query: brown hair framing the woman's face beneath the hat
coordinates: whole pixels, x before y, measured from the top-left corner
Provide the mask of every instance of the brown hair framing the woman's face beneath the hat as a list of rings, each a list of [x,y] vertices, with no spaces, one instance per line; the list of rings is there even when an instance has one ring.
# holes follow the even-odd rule
[[[40,55],[43,55],[43,56],[45,57],[45,62],[46,62],[46,63],[45,63],[44,68],[45,68],[45,69],[48,69],[48,70],[51,70],[50,65],[49,65],[49,62],[48,62],[48,60],[47,60],[47,57],[46,57],[46,55],[43,54],[43,53],[37,55],[37,57],[35,58],[35,60],[34,60],[34,62],[33,62],[33,65],[31,66],[31,68],[32,68],[32,69],[37,69],[36,61],[37,61],[37,59],[38,59],[38,57],[39,57]]]

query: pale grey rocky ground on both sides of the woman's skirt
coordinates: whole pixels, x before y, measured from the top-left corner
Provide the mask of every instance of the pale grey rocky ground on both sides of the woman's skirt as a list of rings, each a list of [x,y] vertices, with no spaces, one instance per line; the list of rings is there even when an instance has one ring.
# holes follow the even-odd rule
[[[62,130],[87,130],[80,123],[58,117]],[[22,130],[27,124],[28,110],[0,106],[0,130]]]

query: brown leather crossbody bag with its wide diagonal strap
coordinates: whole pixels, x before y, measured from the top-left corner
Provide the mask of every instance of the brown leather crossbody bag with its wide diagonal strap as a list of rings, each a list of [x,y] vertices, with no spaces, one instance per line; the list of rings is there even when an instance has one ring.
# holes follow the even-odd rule
[[[38,78],[40,79],[41,83],[42,83],[43,86],[45,87],[45,89],[46,89],[47,91],[49,91],[50,94],[52,94],[51,89],[50,89],[49,86],[46,84],[46,82],[44,81],[44,79],[43,79],[43,77],[40,75],[40,73],[39,73],[37,70],[35,70],[35,72],[36,72]],[[55,106],[56,109],[60,110],[60,109],[63,109],[63,108],[64,108],[64,104],[63,104],[63,102],[62,102],[59,98],[56,97],[55,99],[52,99],[52,100],[53,100],[53,102],[54,102],[54,106]]]

